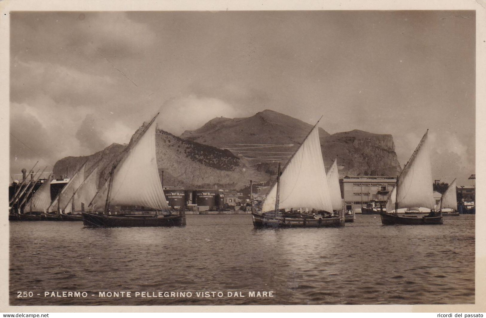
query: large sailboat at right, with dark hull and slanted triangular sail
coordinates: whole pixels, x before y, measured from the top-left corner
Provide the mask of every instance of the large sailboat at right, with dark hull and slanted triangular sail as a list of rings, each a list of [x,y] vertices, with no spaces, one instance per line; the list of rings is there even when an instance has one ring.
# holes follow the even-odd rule
[[[417,149],[397,177],[397,183],[388,195],[386,212],[380,214],[382,224],[442,224],[442,216],[434,211],[428,132],[423,135]],[[398,215],[399,209],[410,207],[427,208],[431,212],[421,218]]]

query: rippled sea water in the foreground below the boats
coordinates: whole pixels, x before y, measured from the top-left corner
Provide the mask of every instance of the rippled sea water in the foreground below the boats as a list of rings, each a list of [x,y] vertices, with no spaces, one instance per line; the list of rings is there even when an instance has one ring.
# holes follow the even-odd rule
[[[10,304],[474,303],[474,227],[474,215],[308,229],[255,229],[251,215],[174,228],[13,221]]]

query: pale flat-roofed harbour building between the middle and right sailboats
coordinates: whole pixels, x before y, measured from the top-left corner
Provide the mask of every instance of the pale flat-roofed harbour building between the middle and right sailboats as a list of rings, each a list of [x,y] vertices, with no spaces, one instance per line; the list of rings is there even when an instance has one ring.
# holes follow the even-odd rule
[[[346,176],[340,179],[346,210],[361,209],[370,201],[386,204],[396,182],[397,177],[392,176]]]

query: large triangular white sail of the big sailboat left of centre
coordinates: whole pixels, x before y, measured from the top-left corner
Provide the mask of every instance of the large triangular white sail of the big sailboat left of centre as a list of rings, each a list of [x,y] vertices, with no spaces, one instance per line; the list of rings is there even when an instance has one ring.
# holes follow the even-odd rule
[[[158,176],[154,122],[115,168],[109,201],[111,205],[169,209]]]

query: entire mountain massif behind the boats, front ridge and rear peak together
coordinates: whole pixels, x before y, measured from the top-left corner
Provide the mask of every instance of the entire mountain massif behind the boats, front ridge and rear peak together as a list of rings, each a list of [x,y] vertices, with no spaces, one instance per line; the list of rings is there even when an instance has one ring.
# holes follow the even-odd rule
[[[250,180],[269,184],[275,180],[278,161],[283,164],[300,146],[312,125],[275,111],[265,110],[247,118],[211,119],[181,137],[156,129],[156,157],[164,185],[187,189],[218,188],[242,190]],[[137,131],[132,139],[137,136]],[[324,163],[335,157],[341,177],[345,175],[397,175],[399,163],[389,134],[364,131],[330,135],[319,128]],[[102,167],[99,184],[108,177],[113,163],[126,145],[112,144],[89,156],[66,157],[56,162],[54,174],[72,175],[87,161]]]

